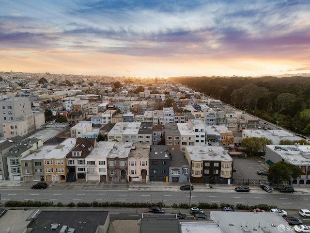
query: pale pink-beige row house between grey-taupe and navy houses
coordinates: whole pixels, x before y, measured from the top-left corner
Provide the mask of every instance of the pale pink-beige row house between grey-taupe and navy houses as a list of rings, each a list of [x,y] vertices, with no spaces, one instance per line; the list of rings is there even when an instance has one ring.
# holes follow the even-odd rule
[[[133,143],[132,150],[128,156],[128,178],[129,182],[147,183],[149,181],[149,143]]]

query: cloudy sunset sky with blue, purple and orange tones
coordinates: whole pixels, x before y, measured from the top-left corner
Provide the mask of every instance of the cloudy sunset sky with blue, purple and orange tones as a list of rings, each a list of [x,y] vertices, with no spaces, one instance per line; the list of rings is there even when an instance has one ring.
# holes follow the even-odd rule
[[[0,71],[310,72],[309,0],[0,0]]]

